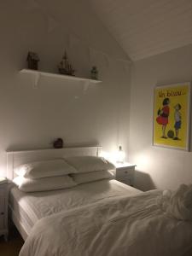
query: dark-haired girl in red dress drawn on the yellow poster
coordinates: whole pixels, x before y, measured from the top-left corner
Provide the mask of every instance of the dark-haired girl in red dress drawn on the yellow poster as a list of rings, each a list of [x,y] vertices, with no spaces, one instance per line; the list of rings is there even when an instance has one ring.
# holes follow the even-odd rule
[[[166,125],[168,124],[168,118],[170,113],[169,104],[170,104],[170,99],[165,98],[162,102],[163,108],[158,110],[158,117],[156,119],[157,123],[159,125],[162,125],[162,138],[167,138]]]

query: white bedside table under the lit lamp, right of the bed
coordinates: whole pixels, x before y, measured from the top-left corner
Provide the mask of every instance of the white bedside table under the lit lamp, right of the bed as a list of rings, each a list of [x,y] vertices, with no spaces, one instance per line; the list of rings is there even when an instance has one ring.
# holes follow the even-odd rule
[[[116,163],[116,180],[127,185],[134,185],[135,166],[130,163]]]

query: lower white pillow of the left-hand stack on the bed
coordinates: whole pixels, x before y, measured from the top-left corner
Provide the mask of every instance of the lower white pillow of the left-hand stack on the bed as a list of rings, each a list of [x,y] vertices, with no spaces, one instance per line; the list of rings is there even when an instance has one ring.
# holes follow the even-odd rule
[[[68,175],[58,177],[42,177],[42,178],[26,178],[15,177],[13,180],[21,191],[24,192],[37,192],[55,189],[67,189],[76,186],[72,177]]]

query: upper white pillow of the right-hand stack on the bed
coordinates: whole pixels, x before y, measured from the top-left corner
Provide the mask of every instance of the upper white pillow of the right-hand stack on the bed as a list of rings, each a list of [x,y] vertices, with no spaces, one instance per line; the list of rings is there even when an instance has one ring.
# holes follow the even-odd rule
[[[96,156],[72,156],[65,158],[79,173],[115,170],[115,166],[108,160]]]

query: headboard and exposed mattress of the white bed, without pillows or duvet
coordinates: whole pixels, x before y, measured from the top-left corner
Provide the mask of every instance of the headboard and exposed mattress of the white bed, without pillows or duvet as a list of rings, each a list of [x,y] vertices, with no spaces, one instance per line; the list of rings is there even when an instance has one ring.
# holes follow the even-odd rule
[[[7,176],[12,180],[15,168],[27,162],[37,160],[54,160],[73,155],[96,155],[102,147],[76,147],[60,149],[36,149],[14,151],[7,153]],[[38,219],[56,212],[67,211],[102,199],[133,195],[141,192],[116,180],[102,180],[95,183],[85,183],[72,189],[58,189],[45,192],[24,193],[13,186],[9,193],[9,210],[11,218],[26,240]]]

